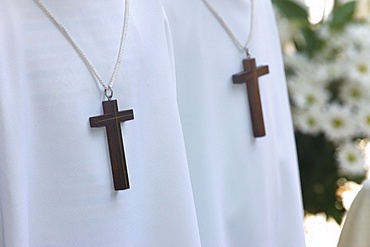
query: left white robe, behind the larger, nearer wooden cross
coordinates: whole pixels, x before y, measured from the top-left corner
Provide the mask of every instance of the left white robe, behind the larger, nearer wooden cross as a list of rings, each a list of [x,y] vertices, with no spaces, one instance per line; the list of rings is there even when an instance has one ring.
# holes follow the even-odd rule
[[[105,81],[123,1],[44,0]],[[131,188],[113,189],[102,87],[31,0],[0,1],[0,246],[198,246],[161,3],[131,1],[114,87]]]

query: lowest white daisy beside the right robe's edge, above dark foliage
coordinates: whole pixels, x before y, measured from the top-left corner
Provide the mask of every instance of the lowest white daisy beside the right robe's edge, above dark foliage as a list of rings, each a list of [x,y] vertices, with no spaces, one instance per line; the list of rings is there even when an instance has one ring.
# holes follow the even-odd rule
[[[307,110],[294,113],[294,125],[303,134],[316,135],[322,131],[323,114],[319,107],[310,107]]]

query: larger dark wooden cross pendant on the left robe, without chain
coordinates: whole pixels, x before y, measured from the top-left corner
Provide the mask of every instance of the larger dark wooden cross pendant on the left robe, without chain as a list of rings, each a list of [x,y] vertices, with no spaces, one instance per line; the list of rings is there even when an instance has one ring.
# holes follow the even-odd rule
[[[118,111],[117,100],[103,101],[103,110],[104,115],[90,117],[90,126],[106,127],[114,189],[129,189],[121,122],[134,119],[134,112],[132,109]]]

